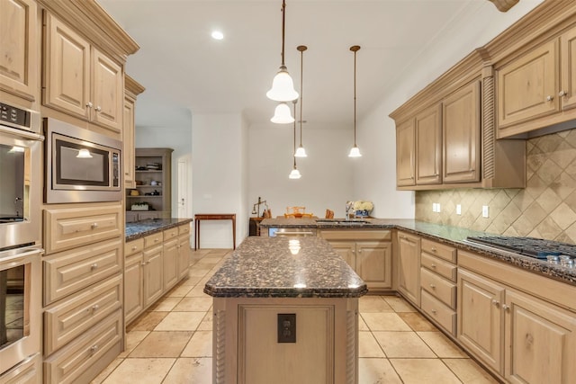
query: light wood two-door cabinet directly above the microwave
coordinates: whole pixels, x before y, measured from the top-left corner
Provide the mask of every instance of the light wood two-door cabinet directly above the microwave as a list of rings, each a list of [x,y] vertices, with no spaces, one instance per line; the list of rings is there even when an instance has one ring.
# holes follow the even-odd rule
[[[44,13],[42,103],[103,128],[121,132],[123,69],[74,29]]]

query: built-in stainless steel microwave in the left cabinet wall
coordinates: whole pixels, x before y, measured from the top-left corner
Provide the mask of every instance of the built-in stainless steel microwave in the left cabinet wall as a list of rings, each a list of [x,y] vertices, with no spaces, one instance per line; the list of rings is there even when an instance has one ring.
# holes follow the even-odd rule
[[[121,141],[44,119],[47,203],[121,201]]]

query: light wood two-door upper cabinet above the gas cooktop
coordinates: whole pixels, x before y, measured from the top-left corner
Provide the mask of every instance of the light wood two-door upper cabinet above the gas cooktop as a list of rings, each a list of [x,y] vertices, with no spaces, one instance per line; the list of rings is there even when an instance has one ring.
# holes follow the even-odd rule
[[[575,49],[572,27],[496,65],[500,138],[576,118]]]

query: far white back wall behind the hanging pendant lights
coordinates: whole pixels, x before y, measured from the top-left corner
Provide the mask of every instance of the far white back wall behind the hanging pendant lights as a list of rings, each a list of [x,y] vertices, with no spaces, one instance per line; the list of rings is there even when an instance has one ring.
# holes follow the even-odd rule
[[[300,144],[300,127],[297,127]],[[308,157],[298,158],[302,178],[291,180],[293,169],[293,124],[255,124],[249,131],[248,209],[266,200],[273,217],[288,206],[304,206],[307,212],[324,217],[326,209],[344,217],[346,201],[359,200],[352,185],[352,164],[347,156],[354,143],[352,128],[304,124],[302,145]],[[260,214],[264,206],[261,206]]]

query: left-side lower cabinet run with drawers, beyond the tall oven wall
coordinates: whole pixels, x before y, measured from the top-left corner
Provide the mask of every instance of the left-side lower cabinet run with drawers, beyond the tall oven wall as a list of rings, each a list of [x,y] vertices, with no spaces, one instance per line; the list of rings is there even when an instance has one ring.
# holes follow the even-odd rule
[[[183,224],[124,245],[124,320],[128,325],[188,275],[190,225]]]

